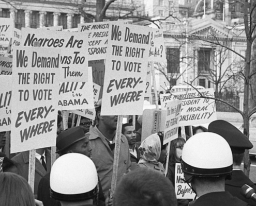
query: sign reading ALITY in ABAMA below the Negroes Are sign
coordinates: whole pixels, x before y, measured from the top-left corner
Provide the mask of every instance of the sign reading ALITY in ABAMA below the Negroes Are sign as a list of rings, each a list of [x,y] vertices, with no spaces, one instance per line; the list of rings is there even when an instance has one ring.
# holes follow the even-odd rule
[[[94,108],[92,68],[88,68],[88,82],[61,82],[58,94],[59,110]]]

